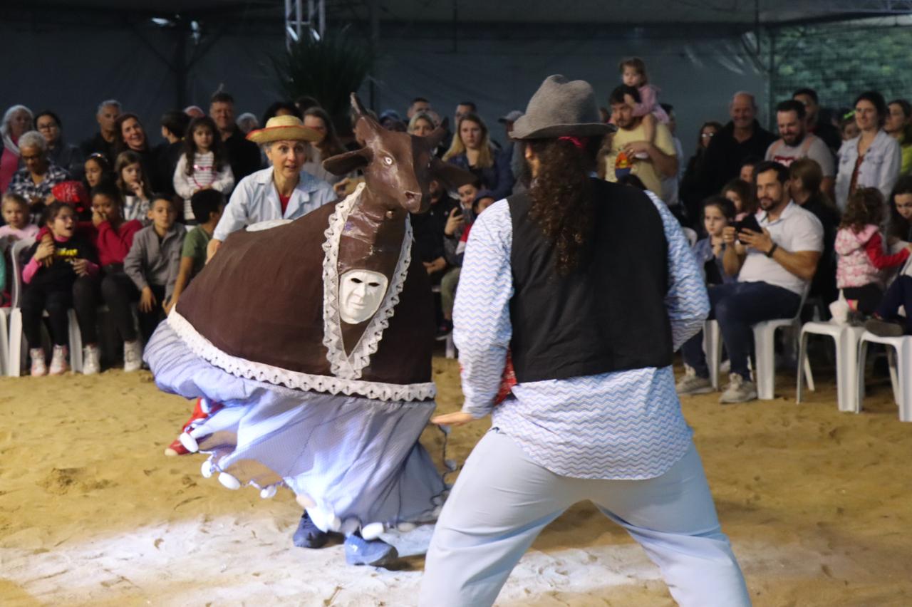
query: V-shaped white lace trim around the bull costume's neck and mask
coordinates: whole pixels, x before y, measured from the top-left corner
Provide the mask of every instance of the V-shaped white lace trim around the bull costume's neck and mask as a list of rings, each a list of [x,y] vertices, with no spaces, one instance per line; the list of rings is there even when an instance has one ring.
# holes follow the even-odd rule
[[[389,326],[389,319],[395,312],[396,304],[399,304],[399,293],[402,293],[411,262],[411,221],[407,217],[399,262],[389,281],[387,294],[364,329],[364,333],[358,338],[358,344],[352,348],[351,355],[346,355],[338,310],[339,239],[345,228],[348,213],[358,204],[364,187],[364,183],[359,184],[355,191],[336,205],[336,210],[329,216],[329,227],[325,232],[326,242],[323,243],[323,250],[326,252],[323,258],[323,345],[326,346],[326,359],[333,375],[345,379],[358,379],[364,368],[370,364],[370,355],[377,352],[383,331]]]

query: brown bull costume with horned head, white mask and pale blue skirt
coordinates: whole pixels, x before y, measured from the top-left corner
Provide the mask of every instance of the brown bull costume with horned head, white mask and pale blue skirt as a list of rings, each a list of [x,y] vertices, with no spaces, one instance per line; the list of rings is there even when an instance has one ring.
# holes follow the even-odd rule
[[[370,543],[433,520],[442,500],[419,442],[435,407],[435,324],[409,212],[427,210],[430,180],[471,176],[433,156],[442,129],[387,131],[352,104],[364,147],[323,165],[362,169],[365,183],[295,221],[234,232],[145,357],[162,390],[221,406],[181,437],[209,454],[204,476],[264,497],[285,484],[316,528]]]

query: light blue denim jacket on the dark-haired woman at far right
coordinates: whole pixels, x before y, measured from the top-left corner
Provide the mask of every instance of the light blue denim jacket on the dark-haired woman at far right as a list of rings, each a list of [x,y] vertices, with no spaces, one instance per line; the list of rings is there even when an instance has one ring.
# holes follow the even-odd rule
[[[836,170],[836,206],[839,211],[845,211],[845,204],[849,200],[849,184],[852,182],[852,171],[855,170],[855,161],[858,159],[858,139],[844,141],[839,148],[839,167]],[[902,151],[899,143],[886,134],[884,129],[877,132],[871,147],[865,152],[865,159],[858,168],[858,187],[876,188],[888,200],[896,180],[899,178],[899,169],[902,166]]]

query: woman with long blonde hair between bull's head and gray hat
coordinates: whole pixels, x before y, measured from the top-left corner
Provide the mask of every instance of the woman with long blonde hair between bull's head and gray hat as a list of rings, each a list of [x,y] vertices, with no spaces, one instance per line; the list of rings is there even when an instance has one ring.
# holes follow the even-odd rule
[[[482,188],[491,190],[498,200],[506,198],[513,191],[510,161],[494,149],[488,128],[477,114],[460,118],[450,149],[443,155],[443,159],[471,171],[481,180]]]

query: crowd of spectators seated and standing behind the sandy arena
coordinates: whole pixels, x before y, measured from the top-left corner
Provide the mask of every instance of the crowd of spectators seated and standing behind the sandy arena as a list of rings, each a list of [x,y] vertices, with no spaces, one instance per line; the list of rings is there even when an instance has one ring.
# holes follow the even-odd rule
[[[859,314],[879,323],[877,330],[908,330],[896,316],[912,293],[907,100],[886,103],[866,91],[852,108],[832,112],[821,108],[814,90],[803,88],[776,106],[773,134],[756,118],[753,95],[739,91],[727,121],[704,117],[694,131],[696,149],[685,159],[674,108],[658,103],[660,91],[649,84],[643,62],[633,57],[619,67],[621,84],[603,108],[617,131],[601,142],[597,176],[648,190],[691,236],[731,365],[722,402],[756,397],[751,325],[792,317],[803,304],[815,304],[826,317],[842,293]],[[385,128],[416,136],[451,125],[437,154],[475,177],[458,191],[432,183],[430,211],[411,218],[412,259],[423,263],[440,290],[440,338],[452,328],[472,221],[494,201],[529,187],[523,145],[511,138],[520,116],[514,110],[499,118],[503,133],[494,133],[472,101],[461,101],[443,120],[421,97],[404,118],[395,110],[378,115]],[[245,139],[281,117],[313,129],[318,138],[263,149]],[[337,132],[314,98],[277,101],[257,118],[236,116],[232,96],[219,91],[208,112],[190,106],[164,113],[157,145],[153,131],[117,100],[100,102],[96,119],[98,131],[80,145],[66,139],[53,111],[33,114],[18,105],[0,124],[0,248],[7,252],[0,291],[8,305],[16,278],[9,273],[8,245],[36,239],[21,260],[20,302],[34,375],[48,371],[40,349],[45,312],[54,345],[50,373],[67,368],[69,308],[77,312],[87,347],[84,371],[98,372],[101,303],[124,342],[125,368],[139,368],[142,340],[232,231],[295,219],[344,196],[358,180],[322,168],[322,160],[357,143]],[[896,275],[902,280],[893,280]],[[679,392],[709,391],[700,336],[685,345],[683,356]]]

